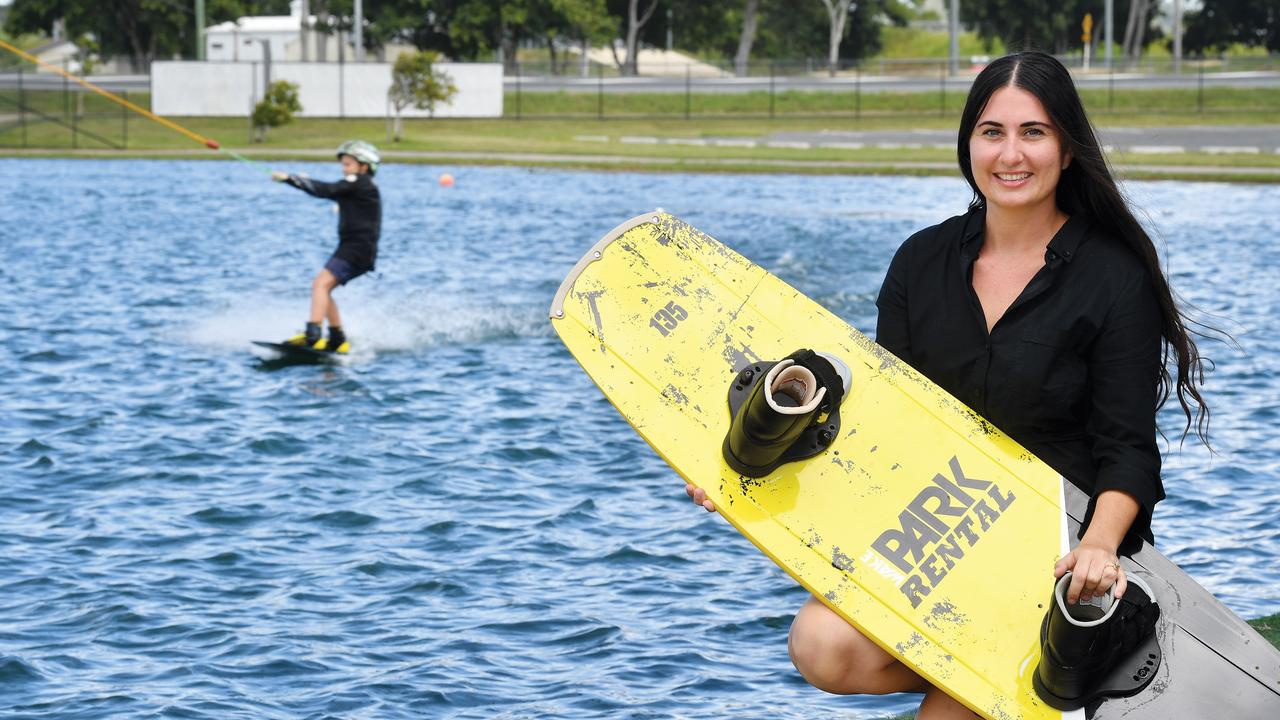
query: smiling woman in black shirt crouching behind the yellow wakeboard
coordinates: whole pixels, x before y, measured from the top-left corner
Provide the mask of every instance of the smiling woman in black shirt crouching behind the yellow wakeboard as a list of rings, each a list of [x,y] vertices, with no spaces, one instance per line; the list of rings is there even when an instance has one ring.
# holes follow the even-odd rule
[[[1091,496],[1079,544],[1053,574],[1071,573],[1069,602],[1123,596],[1119,553],[1153,542],[1164,497],[1156,410],[1170,387],[1187,429],[1194,405],[1204,437],[1198,351],[1061,63],[1019,53],[989,64],[957,149],[969,211],[897,251],[877,341]],[[817,598],[796,614],[788,650],[827,692],[923,692],[918,717],[974,717]]]

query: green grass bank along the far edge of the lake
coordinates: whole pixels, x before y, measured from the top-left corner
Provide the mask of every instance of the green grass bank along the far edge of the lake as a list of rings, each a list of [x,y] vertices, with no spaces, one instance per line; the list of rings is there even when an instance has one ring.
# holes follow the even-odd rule
[[[1147,99],[1155,105],[1166,91],[1149,91]],[[1176,92],[1176,91],[1169,91]],[[1226,97],[1228,91],[1216,88]],[[1280,108],[1280,88],[1249,91],[1252,95],[1271,94]],[[562,94],[553,94],[562,95]],[[805,108],[835,106],[824,104],[847,102],[842,94],[800,94]],[[1129,97],[1135,94],[1126,94]],[[146,96],[131,96],[146,101]],[[526,96],[527,99],[527,96]],[[613,96],[617,102],[636,102],[636,96]],[[698,97],[705,102],[741,100],[733,96]],[[32,101],[31,97],[26,100]],[[550,100],[543,99],[548,102]],[[579,102],[580,99],[570,97]],[[590,96],[588,96],[590,100]],[[653,96],[653,102],[684,102],[682,95]],[[914,97],[913,101],[918,101]],[[644,99],[640,97],[644,106]],[[1096,113],[1094,120],[1102,126],[1171,127],[1206,124],[1267,124],[1276,114],[1256,111],[1231,113],[1171,113],[1139,111],[1142,104],[1132,100],[1124,113]],[[127,113],[116,105],[96,96],[86,96],[82,111],[77,101],[50,95],[28,105],[32,111],[20,117],[0,109],[0,154],[40,156],[77,155],[84,151],[125,149],[127,156],[196,156],[220,158],[157,123]],[[667,106],[667,105],[663,105]],[[556,108],[547,105],[547,108]],[[737,117],[731,114],[694,114],[605,118],[502,118],[468,120],[406,120],[401,142],[388,141],[388,123],[384,119],[308,118],[273,129],[266,141],[253,143],[251,128],[244,118],[173,118],[179,124],[216,138],[224,146],[261,159],[289,159],[323,156],[344,140],[364,137],[383,147],[390,161],[435,164],[518,164],[561,168],[598,168],[611,170],[682,170],[682,172],[765,172],[810,174],[954,174],[955,158],[950,149],[940,147],[754,147],[718,145],[717,141],[733,138],[759,138],[778,132],[820,131],[874,131],[951,129],[959,119],[960,99],[946,113],[920,110],[902,114],[897,108],[888,114],[872,111],[861,117],[849,113],[791,113],[774,118]],[[508,110],[511,104],[508,102]],[[74,128],[74,132],[73,132]],[[675,140],[677,142],[637,142],[635,138]],[[685,141],[686,143],[681,143]],[[709,141],[703,145],[689,141]],[[1119,172],[1130,178],[1194,178],[1280,181],[1280,155],[1217,155],[1206,152],[1167,155],[1121,155],[1112,161]]]

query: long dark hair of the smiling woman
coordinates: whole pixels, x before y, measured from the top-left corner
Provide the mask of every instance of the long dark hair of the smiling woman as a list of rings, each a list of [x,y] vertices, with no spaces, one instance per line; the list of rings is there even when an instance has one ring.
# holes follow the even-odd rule
[[[973,178],[969,158],[969,138],[978,123],[978,115],[997,90],[1015,86],[1034,95],[1062,137],[1064,150],[1071,154],[1071,164],[1062,170],[1057,183],[1056,200],[1060,210],[1068,215],[1083,214],[1089,223],[1116,241],[1128,246],[1147,268],[1160,302],[1161,336],[1164,337],[1164,361],[1160,365],[1160,384],[1157,388],[1157,407],[1169,400],[1170,388],[1176,388],[1178,402],[1187,415],[1183,437],[1190,432],[1192,405],[1196,406],[1196,434],[1208,445],[1208,405],[1201,397],[1199,386],[1204,383],[1204,364],[1188,325],[1204,327],[1189,319],[1169,287],[1169,281],[1160,268],[1156,245],[1147,231],[1133,217],[1128,202],[1116,187],[1102,156],[1097,135],[1084,113],[1084,104],[1075,91],[1071,74],[1052,55],[1043,53],[1014,53],[987,65],[973,81],[969,100],[965,101],[960,117],[960,136],[956,152],[960,172],[973,188],[970,208],[983,208],[987,199],[978,190]],[[1212,328],[1208,328],[1212,331]],[[1197,333],[1203,334],[1203,333]],[[1169,373],[1169,356],[1176,359],[1176,382]]]

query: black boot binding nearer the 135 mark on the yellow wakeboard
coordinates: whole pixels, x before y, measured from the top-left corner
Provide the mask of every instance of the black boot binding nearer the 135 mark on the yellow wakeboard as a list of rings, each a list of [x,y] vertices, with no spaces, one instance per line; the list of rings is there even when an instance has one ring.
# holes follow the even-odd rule
[[[739,370],[728,389],[732,423],[724,461],[749,478],[763,478],[778,465],[818,455],[840,433],[849,383],[844,363],[812,350]]]

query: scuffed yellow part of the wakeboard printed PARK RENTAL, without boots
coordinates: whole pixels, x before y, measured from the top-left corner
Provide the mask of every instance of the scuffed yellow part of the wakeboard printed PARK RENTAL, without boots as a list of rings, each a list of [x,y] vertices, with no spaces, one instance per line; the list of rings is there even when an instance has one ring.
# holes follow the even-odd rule
[[[867,637],[984,717],[1084,716],[1032,687],[1052,566],[1078,527],[1056,471],[795,288],[660,211],[596,243],[550,315],[635,430]],[[721,454],[730,384],[797,348],[852,370],[838,436],[812,459],[742,477]]]

